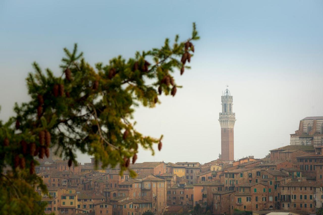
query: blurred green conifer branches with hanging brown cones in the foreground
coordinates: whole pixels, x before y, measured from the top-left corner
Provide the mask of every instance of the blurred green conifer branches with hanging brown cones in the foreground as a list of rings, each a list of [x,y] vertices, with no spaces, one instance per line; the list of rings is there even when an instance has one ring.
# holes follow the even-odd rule
[[[162,147],[162,135],[141,134],[133,122],[134,108],[153,108],[159,96],[175,96],[180,86],[173,73],[183,74],[199,36],[193,24],[192,36],[173,44],[166,39],[161,48],[136,52],[128,60],[122,56],[92,67],[77,45],[62,59],[61,75],[41,69],[26,78],[30,102],[15,104],[15,116],[0,121],[0,213],[42,214],[46,203],[35,192],[47,188],[35,174],[36,157],[49,157],[55,148],[68,165],[77,165],[76,151],[95,157],[96,166],[120,166],[128,170],[137,160],[138,147]],[[14,87],[14,86],[13,86]],[[10,171],[7,171],[10,169]],[[6,174],[4,173],[6,170]],[[135,173],[130,170],[133,177]]]

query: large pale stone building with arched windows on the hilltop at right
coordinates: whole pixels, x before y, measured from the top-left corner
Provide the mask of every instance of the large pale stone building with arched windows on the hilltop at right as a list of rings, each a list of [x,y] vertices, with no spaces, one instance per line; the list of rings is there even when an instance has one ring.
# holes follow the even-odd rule
[[[323,116],[305,117],[298,130],[290,135],[291,145],[321,145],[323,143]]]

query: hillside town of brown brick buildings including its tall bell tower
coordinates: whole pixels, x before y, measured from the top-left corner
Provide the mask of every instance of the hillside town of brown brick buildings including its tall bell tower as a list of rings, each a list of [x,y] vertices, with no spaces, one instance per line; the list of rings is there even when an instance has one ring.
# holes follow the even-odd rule
[[[142,162],[130,164],[135,178],[120,168],[90,163],[68,166],[58,157],[38,160],[36,173],[48,194],[36,187],[45,213],[156,215],[190,213],[197,205],[212,214],[286,212],[313,214],[323,208],[323,116],[306,117],[290,134],[290,144],[264,158],[234,160],[235,113],[228,89],[221,97],[221,155],[200,163]]]

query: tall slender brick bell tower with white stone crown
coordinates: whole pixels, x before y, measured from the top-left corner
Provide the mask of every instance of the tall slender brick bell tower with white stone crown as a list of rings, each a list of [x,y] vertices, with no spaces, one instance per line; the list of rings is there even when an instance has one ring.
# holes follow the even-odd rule
[[[233,128],[235,113],[232,112],[233,96],[230,95],[228,86],[221,96],[222,112],[219,113],[221,126],[221,160],[234,161],[234,140]]]

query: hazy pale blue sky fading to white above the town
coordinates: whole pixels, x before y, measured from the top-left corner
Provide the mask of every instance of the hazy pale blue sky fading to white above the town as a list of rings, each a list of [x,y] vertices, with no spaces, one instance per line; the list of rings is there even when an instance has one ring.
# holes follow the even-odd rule
[[[190,71],[157,108],[139,108],[136,128],[164,134],[163,148],[143,161],[215,160],[221,152],[221,94],[233,95],[234,157],[263,158],[289,144],[299,120],[323,115],[322,1],[0,1],[0,118],[28,101],[25,78],[37,61],[58,75],[63,47],[75,42],[86,60],[128,58],[160,47],[164,38],[191,35]],[[78,155],[89,162],[88,155]]]

